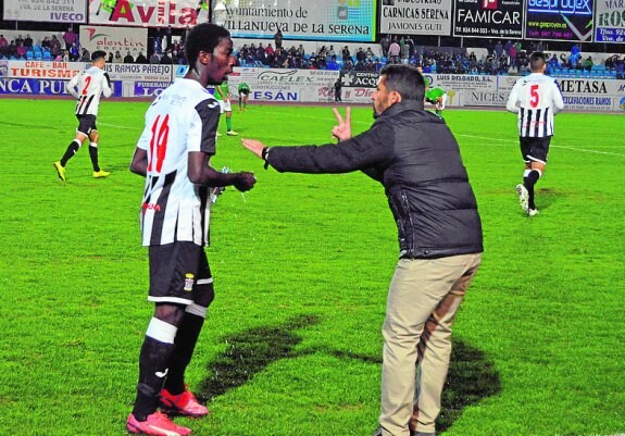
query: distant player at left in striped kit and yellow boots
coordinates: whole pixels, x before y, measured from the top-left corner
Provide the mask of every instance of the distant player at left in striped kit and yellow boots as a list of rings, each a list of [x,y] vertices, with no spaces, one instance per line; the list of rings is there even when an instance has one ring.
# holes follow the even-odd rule
[[[65,165],[67,161],[76,154],[83,142],[89,139],[89,157],[93,166],[93,177],[107,177],[111,173],[103,171],[98,163],[98,127],[96,119],[98,109],[100,109],[100,97],[111,97],[111,78],[104,71],[107,63],[107,53],[102,50],[95,51],[91,54],[91,66],[76,74],[67,84],[67,91],[77,100],[76,110],[74,111],[78,119],[78,128],[76,137],[65,150],[65,154],[60,161],[54,162],[54,169],[59,178],[63,182],[65,177]]]

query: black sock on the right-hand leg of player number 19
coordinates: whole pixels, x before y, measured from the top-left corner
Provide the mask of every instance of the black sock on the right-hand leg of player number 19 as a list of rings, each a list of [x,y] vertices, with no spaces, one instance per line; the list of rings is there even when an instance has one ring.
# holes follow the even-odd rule
[[[185,391],[185,370],[191,361],[198,337],[202,331],[204,319],[191,313],[185,313],[174,341],[175,350],[170,362],[170,372],[165,381],[165,389],[172,395]]]

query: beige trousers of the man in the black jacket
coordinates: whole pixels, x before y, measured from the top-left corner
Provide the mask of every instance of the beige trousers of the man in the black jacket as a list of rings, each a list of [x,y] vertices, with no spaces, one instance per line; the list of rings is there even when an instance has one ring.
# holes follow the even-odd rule
[[[383,436],[435,433],[451,356],[451,324],[480,261],[480,253],[399,261],[382,329]]]

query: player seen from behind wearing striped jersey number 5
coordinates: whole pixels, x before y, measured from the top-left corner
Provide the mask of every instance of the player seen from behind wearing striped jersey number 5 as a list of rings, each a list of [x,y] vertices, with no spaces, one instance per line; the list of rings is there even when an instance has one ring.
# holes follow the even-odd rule
[[[505,109],[518,114],[521,153],[525,161],[523,184],[516,185],[521,208],[528,216],[538,214],[534,201],[534,186],[545,173],[549,142],[553,136],[553,115],[564,109],[558,84],[545,75],[545,54],[529,57],[532,74],[514,84]]]

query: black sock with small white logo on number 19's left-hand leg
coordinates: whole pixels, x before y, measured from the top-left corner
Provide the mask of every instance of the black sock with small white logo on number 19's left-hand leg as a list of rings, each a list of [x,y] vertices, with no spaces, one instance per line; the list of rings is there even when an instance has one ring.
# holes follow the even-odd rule
[[[139,354],[139,383],[133,414],[137,421],[146,421],[159,407],[159,394],[168,373],[174,344],[161,342],[146,336]]]

